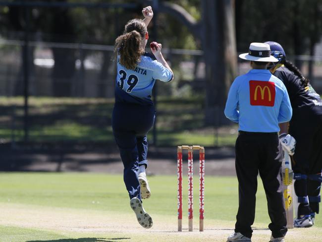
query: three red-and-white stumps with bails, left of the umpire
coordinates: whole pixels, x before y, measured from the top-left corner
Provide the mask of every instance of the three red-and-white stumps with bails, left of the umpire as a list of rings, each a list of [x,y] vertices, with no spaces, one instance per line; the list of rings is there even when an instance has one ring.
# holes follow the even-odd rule
[[[199,145],[178,146],[178,231],[182,231],[182,150],[188,150],[188,218],[193,231],[193,150],[199,150],[199,231],[204,231],[205,148]]]

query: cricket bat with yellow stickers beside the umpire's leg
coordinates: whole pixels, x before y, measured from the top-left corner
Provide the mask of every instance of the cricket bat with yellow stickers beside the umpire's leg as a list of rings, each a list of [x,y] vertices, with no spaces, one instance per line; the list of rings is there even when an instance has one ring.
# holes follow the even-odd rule
[[[291,166],[291,159],[287,151],[284,150],[284,160],[282,162],[283,170],[283,194],[286,211],[286,227],[288,229],[294,228],[294,212],[293,212],[293,171]]]

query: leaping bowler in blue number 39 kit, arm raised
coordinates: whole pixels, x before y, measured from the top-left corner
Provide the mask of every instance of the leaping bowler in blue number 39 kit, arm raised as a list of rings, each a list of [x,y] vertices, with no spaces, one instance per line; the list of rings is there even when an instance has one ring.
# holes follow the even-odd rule
[[[149,229],[153,222],[142,206],[142,198],[150,197],[145,169],[147,133],[155,119],[151,95],[156,79],[169,82],[173,72],[161,54],[161,44],[152,45],[155,58],[144,52],[149,39],[147,26],[153,17],[151,6],[143,8],[142,13],[145,19],[128,21],[123,35],[115,40],[117,75],[112,128],[124,165],[123,179],[131,208],[140,225]]]

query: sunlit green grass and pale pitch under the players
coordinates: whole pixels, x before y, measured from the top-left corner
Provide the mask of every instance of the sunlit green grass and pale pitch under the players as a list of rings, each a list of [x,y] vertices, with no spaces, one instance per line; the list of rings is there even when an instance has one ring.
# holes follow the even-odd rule
[[[0,241],[219,242],[233,232],[238,206],[236,178],[206,174],[204,232],[198,230],[198,176],[194,177],[194,232],[187,230],[187,178],[183,183],[183,232],[177,232],[176,176],[153,176],[149,181],[152,196],[144,200],[144,207],[154,226],[147,230],[136,221],[121,175],[0,173]],[[314,227],[289,230],[286,241],[321,241],[321,221],[318,215]],[[268,223],[259,181],[253,241],[268,241]]]

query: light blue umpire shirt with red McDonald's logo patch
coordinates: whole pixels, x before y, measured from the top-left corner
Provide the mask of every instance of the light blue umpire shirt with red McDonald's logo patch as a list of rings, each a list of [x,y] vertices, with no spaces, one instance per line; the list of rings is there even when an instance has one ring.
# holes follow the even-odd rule
[[[252,69],[236,77],[229,89],[225,116],[248,132],[278,132],[278,123],[292,117],[283,82],[266,69]]]

